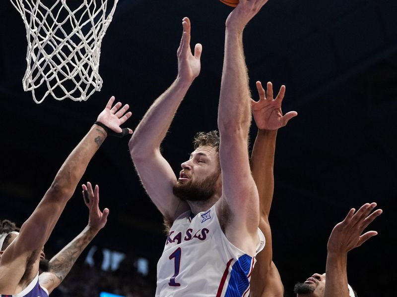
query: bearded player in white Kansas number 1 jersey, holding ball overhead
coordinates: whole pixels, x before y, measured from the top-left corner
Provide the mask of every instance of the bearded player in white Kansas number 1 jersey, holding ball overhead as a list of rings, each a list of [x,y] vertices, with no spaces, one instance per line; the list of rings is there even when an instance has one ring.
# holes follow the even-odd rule
[[[142,184],[170,227],[157,265],[156,296],[248,296],[264,246],[259,198],[248,158],[251,95],[243,29],[266,0],[242,0],[226,20],[217,132],[199,133],[177,178],[160,152],[175,112],[200,71],[183,19],[178,76],[146,112],[130,141]],[[189,125],[189,116],[186,116]]]

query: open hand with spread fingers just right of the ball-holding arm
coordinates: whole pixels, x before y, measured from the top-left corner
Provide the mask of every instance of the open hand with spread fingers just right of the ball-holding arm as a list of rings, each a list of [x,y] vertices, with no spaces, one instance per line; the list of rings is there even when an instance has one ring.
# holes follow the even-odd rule
[[[296,111],[290,111],[284,116],[282,115],[281,103],[285,94],[285,86],[281,86],[275,99],[273,99],[273,86],[270,82],[267,83],[267,92],[260,81],[257,82],[257,89],[259,101],[251,100],[251,104],[258,129],[277,130],[284,127],[290,119],[298,115]]]

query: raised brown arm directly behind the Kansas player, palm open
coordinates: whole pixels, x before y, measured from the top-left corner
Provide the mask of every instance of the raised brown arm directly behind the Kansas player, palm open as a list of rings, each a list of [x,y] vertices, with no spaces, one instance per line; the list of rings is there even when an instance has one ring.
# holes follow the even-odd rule
[[[251,154],[251,170],[259,194],[260,223],[259,228],[265,234],[265,248],[256,256],[257,263],[251,276],[252,297],[282,297],[284,287],[280,274],[272,261],[272,239],[268,220],[274,190],[274,151],[277,130],[287,124],[288,120],[296,116],[295,111],[284,116],[281,111],[281,102],[284,97],[285,87],[273,99],[273,88],[267,83],[267,90],[257,82],[259,101],[252,100],[252,110],[258,135]]]

